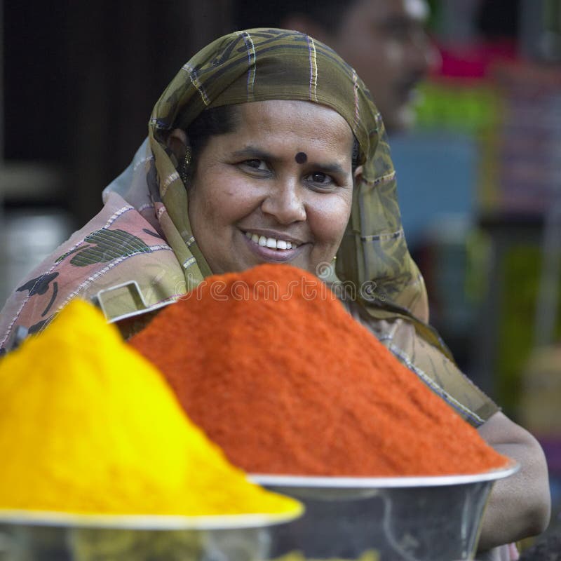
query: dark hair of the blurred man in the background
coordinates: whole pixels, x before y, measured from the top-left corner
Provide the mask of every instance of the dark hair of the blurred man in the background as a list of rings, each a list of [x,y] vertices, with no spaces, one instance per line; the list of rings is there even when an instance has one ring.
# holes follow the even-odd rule
[[[306,15],[336,33],[344,15],[357,0],[234,0],[236,29],[250,27],[282,27],[283,20],[292,14]]]

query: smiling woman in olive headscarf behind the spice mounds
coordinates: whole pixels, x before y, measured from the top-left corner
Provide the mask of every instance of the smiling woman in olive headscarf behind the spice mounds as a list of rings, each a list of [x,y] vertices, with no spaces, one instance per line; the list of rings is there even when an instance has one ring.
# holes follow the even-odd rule
[[[43,330],[75,297],[95,300],[130,334],[144,321],[130,318],[147,318],[212,273],[291,264],[351,288],[344,304],[353,318],[520,462],[489,500],[482,543],[543,529],[543,452],[459,372],[428,325],[384,125],[332,49],[283,29],[213,41],[165,89],[147,140],[103,198],[101,212],[8,299],[0,353],[22,332]]]

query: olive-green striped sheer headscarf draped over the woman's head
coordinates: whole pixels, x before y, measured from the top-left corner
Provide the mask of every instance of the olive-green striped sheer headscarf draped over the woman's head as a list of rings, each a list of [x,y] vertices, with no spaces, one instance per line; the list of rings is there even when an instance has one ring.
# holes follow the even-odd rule
[[[165,208],[158,219],[182,264],[187,287],[208,276],[210,269],[191,231],[187,189],[177,173],[179,163],[166,146],[168,133],[173,128],[186,130],[208,107],[263,100],[323,104],[349,123],[360,145],[363,173],[353,191],[337,273],[340,280],[367,289],[357,290],[358,297],[374,315],[374,309],[390,310],[416,322],[418,318],[423,329],[428,319],[426,290],[407,251],[396,173],[372,96],[331,48],[284,29],[250,29],[213,41],[182,67],[152,112],[149,144],[157,196]],[[129,200],[130,193],[123,195]]]

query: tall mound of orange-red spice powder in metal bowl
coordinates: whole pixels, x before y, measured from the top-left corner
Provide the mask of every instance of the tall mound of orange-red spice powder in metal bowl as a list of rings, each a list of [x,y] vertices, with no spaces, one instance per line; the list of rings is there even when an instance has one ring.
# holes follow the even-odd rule
[[[210,277],[130,344],[250,473],[451,475],[508,463],[292,266]]]

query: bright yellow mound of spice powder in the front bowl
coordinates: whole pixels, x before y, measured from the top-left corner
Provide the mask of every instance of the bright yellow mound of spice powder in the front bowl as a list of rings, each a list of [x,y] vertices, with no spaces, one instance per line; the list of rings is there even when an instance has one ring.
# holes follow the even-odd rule
[[[0,361],[0,403],[1,509],[299,512],[231,466],[156,368],[86,302]]]

